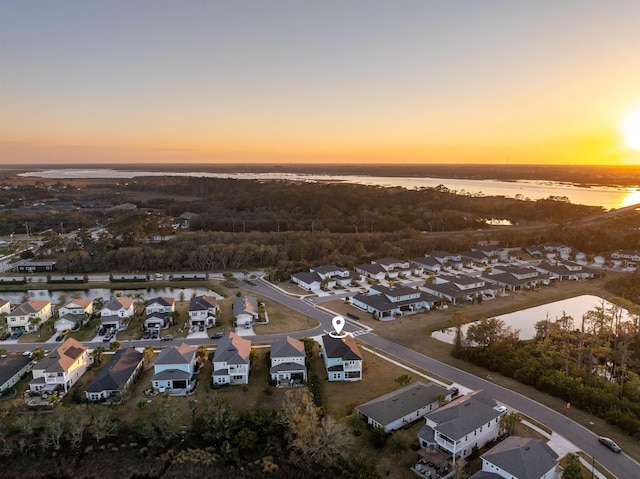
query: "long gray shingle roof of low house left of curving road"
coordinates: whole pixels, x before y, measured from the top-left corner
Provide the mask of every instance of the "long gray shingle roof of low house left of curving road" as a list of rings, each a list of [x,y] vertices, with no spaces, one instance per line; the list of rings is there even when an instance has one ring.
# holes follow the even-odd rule
[[[435,402],[436,396],[451,394],[434,383],[415,382],[356,407],[356,411],[378,424],[387,425]]]

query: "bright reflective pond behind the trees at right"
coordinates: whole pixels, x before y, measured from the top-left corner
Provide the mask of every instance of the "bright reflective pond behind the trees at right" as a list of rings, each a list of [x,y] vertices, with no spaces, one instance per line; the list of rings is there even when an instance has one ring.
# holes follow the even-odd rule
[[[574,326],[579,327],[584,313],[602,306],[604,306],[605,309],[609,309],[613,304],[598,296],[585,294],[495,317],[504,321],[507,326],[519,330],[520,334],[518,336],[520,339],[532,339],[536,335],[535,324],[538,321],[547,319],[547,317],[550,321],[555,321],[566,314],[573,318]],[[631,318],[625,309],[622,310],[622,317],[623,320]],[[462,327],[464,334],[467,333],[468,327],[469,324]],[[454,335],[454,328],[434,331],[431,334],[433,338],[449,344],[453,344]]]

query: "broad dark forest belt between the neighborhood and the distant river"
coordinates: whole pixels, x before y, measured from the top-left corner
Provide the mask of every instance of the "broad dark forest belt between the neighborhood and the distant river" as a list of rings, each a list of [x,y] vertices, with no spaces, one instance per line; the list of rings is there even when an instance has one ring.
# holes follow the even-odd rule
[[[38,207],[25,212],[18,205],[27,196]],[[114,199],[137,207],[97,207]],[[565,198],[484,197],[444,187],[154,177],[7,187],[0,200],[10,206],[0,213],[2,232],[46,230],[39,254],[68,273],[270,267],[286,277],[310,264],[459,252],[482,240],[506,247],[559,241],[591,255],[640,247],[633,211],[602,216],[600,208]],[[194,214],[189,230],[175,231],[173,218],[185,212]],[[489,226],[492,218],[514,226]],[[92,234],[96,225],[103,229]],[[72,238],[59,234],[76,228]]]

